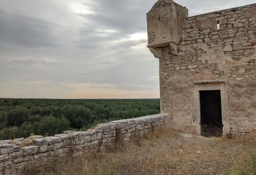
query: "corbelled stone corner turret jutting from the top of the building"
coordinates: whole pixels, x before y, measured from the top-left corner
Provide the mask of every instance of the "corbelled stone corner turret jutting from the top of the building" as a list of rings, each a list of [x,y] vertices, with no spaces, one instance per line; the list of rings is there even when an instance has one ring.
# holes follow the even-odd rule
[[[157,1],[147,13],[148,47],[156,58],[162,56],[162,47],[166,46],[177,55],[178,31],[187,16],[187,8],[172,0]]]

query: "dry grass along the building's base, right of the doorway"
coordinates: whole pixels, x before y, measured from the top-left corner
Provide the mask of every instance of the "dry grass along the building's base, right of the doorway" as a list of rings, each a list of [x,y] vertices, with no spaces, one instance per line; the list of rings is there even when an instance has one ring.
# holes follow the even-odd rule
[[[255,146],[256,141],[253,136],[250,135],[238,135],[227,133],[225,136],[216,139],[217,142],[227,142],[229,144],[238,144],[244,146]]]

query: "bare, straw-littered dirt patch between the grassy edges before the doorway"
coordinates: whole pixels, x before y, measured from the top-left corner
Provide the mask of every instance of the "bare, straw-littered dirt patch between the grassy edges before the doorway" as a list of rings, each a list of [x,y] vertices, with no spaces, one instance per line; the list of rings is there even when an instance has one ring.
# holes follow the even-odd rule
[[[256,142],[245,146],[218,139],[186,134],[178,139],[159,138],[137,150],[143,159],[136,160],[137,167],[131,174],[221,175],[226,169],[244,164],[256,153]]]

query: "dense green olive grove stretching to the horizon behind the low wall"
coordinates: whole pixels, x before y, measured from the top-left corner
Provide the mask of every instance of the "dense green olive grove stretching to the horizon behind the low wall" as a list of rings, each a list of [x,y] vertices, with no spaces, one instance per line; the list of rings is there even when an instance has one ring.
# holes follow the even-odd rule
[[[86,131],[102,122],[157,113],[159,99],[0,99],[0,140]]]

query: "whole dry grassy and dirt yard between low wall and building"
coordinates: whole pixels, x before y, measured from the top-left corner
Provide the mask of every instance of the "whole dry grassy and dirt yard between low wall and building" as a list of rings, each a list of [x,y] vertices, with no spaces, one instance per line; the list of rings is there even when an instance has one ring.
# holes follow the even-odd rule
[[[49,161],[27,175],[255,175],[254,138],[207,138],[168,128],[134,137],[122,149]],[[233,169],[239,167],[237,169]],[[230,170],[232,169],[232,170]],[[230,170],[227,173],[227,170]],[[233,171],[234,170],[234,171]],[[231,172],[231,173],[230,173]],[[233,173],[235,172],[235,173]],[[237,173],[238,172],[238,173]]]

